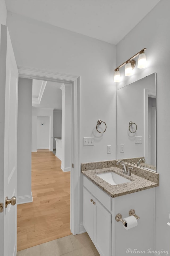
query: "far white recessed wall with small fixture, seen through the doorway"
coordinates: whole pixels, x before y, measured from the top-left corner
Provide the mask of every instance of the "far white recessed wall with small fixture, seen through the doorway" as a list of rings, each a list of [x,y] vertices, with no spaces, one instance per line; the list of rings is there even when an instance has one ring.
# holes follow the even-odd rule
[[[49,143],[50,117],[37,116],[37,149],[49,149]]]

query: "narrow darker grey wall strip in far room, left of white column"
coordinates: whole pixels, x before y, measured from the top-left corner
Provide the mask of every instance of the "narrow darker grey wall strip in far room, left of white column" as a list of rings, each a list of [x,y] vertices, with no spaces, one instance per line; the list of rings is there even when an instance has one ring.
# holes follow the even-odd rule
[[[60,109],[54,109],[53,136],[61,137],[61,115]],[[53,140],[53,148],[56,148],[56,140]]]

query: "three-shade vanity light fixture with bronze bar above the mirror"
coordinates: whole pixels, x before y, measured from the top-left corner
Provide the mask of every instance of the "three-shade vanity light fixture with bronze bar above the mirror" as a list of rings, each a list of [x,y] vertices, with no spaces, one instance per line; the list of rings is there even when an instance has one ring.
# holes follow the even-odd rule
[[[145,55],[146,48],[143,48],[140,52],[136,53],[133,57],[131,57],[129,60],[125,61],[123,64],[118,66],[116,69],[114,69],[114,82],[120,82],[120,71],[119,69],[125,65],[125,76],[131,76],[132,70],[135,67],[136,61],[134,58],[136,58],[139,55],[138,58],[138,68],[145,68],[146,67],[146,55]]]

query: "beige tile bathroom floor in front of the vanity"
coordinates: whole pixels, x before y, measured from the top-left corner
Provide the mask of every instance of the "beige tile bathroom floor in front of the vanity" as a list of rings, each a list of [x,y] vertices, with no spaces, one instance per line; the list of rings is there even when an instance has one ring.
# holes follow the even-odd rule
[[[87,233],[68,235],[18,251],[17,256],[100,256]]]

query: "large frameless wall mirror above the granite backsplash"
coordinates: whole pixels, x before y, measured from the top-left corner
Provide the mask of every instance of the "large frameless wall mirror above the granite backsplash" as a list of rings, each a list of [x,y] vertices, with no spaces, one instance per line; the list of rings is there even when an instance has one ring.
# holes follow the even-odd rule
[[[117,90],[117,159],[156,171],[156,73]]]

